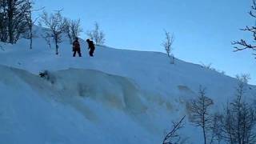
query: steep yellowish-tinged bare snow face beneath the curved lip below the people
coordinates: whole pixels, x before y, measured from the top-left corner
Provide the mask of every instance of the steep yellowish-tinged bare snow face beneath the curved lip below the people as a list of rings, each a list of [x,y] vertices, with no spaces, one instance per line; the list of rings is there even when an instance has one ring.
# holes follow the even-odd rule
[[[137,86],[127,78],[105,74],[97,70],[61,70],[50,73],[54,89],[62,92],[62,97],[82,97],[130,114],[142,114],[146,106],[140,99]]]

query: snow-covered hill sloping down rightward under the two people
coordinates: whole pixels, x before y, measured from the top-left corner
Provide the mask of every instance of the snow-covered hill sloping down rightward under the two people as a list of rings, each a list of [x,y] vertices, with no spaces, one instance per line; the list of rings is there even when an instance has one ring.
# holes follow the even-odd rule
[[[68,41],[60,55],[42,38],[34,49],[22,39],[0,43],[0,143],[161,143],[171,121],[186,114],[186,101],[200,85],[215,110],[234,97],[234,78],[166,54],[97,46],[73,58]],[[48,70],[50,79],[38,76]],[[255,86],[246,98],[254,100]],[[200,130],[186,122],[181,131],[200,143]]]

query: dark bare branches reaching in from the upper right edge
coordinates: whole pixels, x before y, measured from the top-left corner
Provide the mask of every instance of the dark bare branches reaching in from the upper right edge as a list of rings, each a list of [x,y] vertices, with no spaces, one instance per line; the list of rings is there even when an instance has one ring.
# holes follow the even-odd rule
[[[256,0],[253,0],[253,6],[251,6],[251,10],[249,14],[252,18],[256,18]],[[246,26],[246,28],[241,30],[250,32],[250,34],[253,35],[253,40],[254,41],[256,40],[256,26]],[[246,50],[246,49],[256,51],[256,46],[251,44],[250,42],[247,42],[244,39],[241,39],[240,41],[234,41],[232,42],[232,44],[234,45],[234,51],[240,51],[240,50]]]

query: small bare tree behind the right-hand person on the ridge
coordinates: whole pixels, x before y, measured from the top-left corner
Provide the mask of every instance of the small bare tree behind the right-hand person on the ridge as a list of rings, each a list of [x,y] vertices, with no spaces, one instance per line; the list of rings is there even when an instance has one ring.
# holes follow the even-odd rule
[[[100,30],[98,22],[94,23],[94,30],[89,30],[86,34],[96,45],[104,45],[106,41],[105,34]]]

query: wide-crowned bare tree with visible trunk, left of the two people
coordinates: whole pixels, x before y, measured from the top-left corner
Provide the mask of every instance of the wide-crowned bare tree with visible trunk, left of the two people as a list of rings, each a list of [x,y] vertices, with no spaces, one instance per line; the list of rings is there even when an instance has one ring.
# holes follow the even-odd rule
[[[66,21],[62,17],[61,10],[50,15],[44,11],[40,23],[46,28],[44,29],[46,36],[53,38],[56,54],[58,54],[58,44],[62,42],[62,34],[66,30]]]

